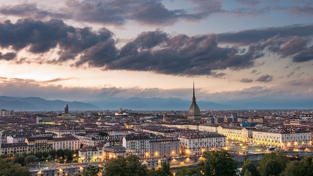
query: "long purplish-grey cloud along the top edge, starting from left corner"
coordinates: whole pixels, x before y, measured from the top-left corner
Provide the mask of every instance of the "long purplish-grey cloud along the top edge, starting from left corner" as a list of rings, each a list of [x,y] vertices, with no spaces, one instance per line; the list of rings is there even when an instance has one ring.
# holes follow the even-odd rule
[[[180,19],[200,20],[221,11],[219,0],[189,0],[189,9],[168,9],[162,0],[66,0],[66,7],[39,9],[35,3],[2,6],[0,13],[35,19],[62,18],[123,25],[128,20],[171,25]],[[58,12],[61,11],[61,12]]]

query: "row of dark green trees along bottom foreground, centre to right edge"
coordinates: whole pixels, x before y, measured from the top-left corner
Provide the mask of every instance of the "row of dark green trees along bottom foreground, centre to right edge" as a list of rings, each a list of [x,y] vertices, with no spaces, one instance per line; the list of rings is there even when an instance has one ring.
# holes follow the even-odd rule
[[[200,161],[195,168],[181,168],[179,176],[292,176],[313,175],[313,157],[287,157],[282,152],[266,153],[256,167],[249,159],[244,161],[241,171],[237,169],[237,163],[225,150],[212,150],[203,153],[204,160]],[[103,169],[103,168],[102,168]],[[101,168],[93,169],[99,171]],[[96,174],[85,173],[83,176]],[[119,157],[110,160],[105,165],[105,176],[129,176],[129,175],[172,175],[169,163],[162,162],[159,169],[147,169],[139,162],[135,155]]]

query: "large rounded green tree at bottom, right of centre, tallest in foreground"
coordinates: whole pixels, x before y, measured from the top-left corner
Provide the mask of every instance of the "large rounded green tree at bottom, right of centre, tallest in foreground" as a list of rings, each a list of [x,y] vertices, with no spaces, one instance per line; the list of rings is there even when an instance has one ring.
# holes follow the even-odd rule
[[[203,175],[236,175],[237,164],[225,150],[212,150],[203,153],[205,160],[198,163],[197,168]]]

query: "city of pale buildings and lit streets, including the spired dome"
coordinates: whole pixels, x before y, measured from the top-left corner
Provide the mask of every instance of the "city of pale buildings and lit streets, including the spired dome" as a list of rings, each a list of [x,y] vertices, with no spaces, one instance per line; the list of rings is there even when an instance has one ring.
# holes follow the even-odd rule
[[[194,87],[182,111],[70,111],[65,104],[61,113],[1,109],[0,117],[1,155],[40,153],[31,175],[80,174],[89,164],[105,172],[108,160],[129,154],[147,168],[165,161],[173,169],[195,165],[211,150],[226,150],[237,162],[275,151],[313,153],[312,110],[200,110]],[[64,149],[72,152],[57,156]]]

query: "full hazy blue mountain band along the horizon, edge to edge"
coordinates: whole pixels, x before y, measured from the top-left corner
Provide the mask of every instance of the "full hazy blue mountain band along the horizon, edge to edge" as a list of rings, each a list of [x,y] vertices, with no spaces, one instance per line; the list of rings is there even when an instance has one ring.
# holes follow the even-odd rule
[[[97,101],[79,102],[63,100],[46,100],[40,97],[0,96],[0,109],[15,111],[63,111],[66,103],[69,110],[188,110],[191,99],[179,98],[105,98]],[[200,109],[234,110],[234,109],[313,109],[313,99],[275,99],[249,98],[227,100],[224,102],[196,101]]]

